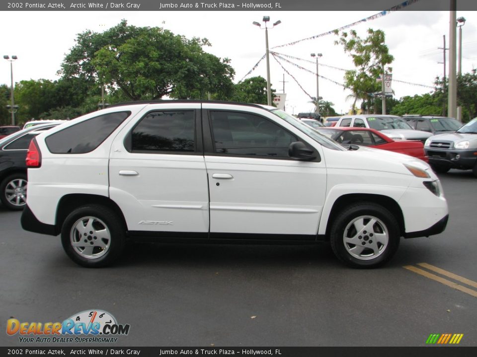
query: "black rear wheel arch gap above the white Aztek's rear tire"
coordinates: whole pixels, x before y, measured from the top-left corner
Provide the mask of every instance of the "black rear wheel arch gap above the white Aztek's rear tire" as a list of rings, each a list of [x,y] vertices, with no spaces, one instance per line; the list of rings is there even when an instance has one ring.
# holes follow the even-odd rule
[[[61,230],[63,223],[67,216],[80,206],[88,204],[99,204],[111,208],[119,217],[127,230],[126,219],[119,206],[111,198],[101,195],[85,194],[85,193],[72,193],[63,196],[58,202],[56,211],[55,226],[58,230]]]

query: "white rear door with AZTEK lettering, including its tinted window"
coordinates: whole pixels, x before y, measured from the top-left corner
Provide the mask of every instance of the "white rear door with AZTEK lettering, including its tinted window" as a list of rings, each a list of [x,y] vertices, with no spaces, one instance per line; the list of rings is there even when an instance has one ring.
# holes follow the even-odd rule
[[[207,238],[200,103],[149,105],[136,118],[115,138],[109,162],[110,197],[128,230]]]

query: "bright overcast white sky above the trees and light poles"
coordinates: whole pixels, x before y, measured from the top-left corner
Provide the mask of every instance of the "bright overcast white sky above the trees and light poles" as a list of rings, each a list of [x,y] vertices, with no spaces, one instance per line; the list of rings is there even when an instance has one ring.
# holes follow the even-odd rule
[[[205,51],[220,58],[229,58],[235,69],[234,82],[243,78],[262,76],[266,78],[266,62],[244,77],[265,54],[265,31],[252,24],[270,16],[270,22],[281,24],[268,30],[270,51],[303,59],[291,61],[308,71],[282,60],[282,66],[270,56],[272,88],[285,93],[285,110],[290,114],[314,111],[310,96],[316,96],[316,60],[311,53],[321,53],[319,75],[330,80],[319,79],[319,96],[332,102],[338,113],[348,112],[353,100],[349,90],[334,82],[343,83],[344,71],[328,66],[353,69],[351,58],[341,45],[335,45],[335,35],[321,36],[301,41],[293,46],[274,48],[294,41],[316,36],[336,28],[354,23],[376,11],[9,11],[3,12],[2,28],[13,29],[10,35],[1,36],[1,56],[18,56],[13,62],[13,80],[59,79],[57,71],[70,49],[75,45],[77,34],[86,29],[102,32],[126,19],[135,26],[159,26],[174,34],[187,38],[207,38],[212,47]],[[7,15],[7,16],[5,16]],[[477,68],[477,11],[457,11],[464,16],[462,28],[462,71]],[[442,77],[443,35],[449,47],[448,11],[395,11],[386,16],[367,21],[352,28],[361,37],[366,30],[383,30],[386,44],[395,60],[392,88],[394,97],[413,96],[432,91],[436,76]],[[458,31],[457,31],[458,33]],[[447,56],[448,64],[448,56]],[[441,62],[441,63],[439,63]],[[287,73],[288,71],[288,73]],[[447,75],[448,69],[446,69]],[[285,81],[285,83],[283,83]],[[402,82],[414,83],[406,84]],[[10,63],[0,62],[0,84],[10,86]],[[303,89],[302,89],[303,88]],[[415,113],[414,113],[415,114]]]

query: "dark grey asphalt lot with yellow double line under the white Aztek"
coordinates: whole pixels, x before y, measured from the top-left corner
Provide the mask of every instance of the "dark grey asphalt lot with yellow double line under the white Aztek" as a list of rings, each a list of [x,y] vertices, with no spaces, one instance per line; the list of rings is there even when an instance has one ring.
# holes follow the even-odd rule
[[[24,232],[20,212],[0,206],[0,345],[25,346],[4,332],[10,317],[55,322],[101,309],[131,326],[114,346],[425,346],[437,333],[475,347],[477,179],[440,178],[446,231],[401,239],[373,270],[343,266],[326,243],[141,243],[121,264],[85,269],[59,237]]]

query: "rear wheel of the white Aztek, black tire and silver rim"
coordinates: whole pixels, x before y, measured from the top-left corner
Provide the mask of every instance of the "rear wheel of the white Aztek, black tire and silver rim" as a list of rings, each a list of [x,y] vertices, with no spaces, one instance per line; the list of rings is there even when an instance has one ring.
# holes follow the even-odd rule
[[[86,268],[100,268],[121,256],[126,244],[126,229],[113,210],[91,204],[68,215],[62,226],[61,242],[75,263]]]

